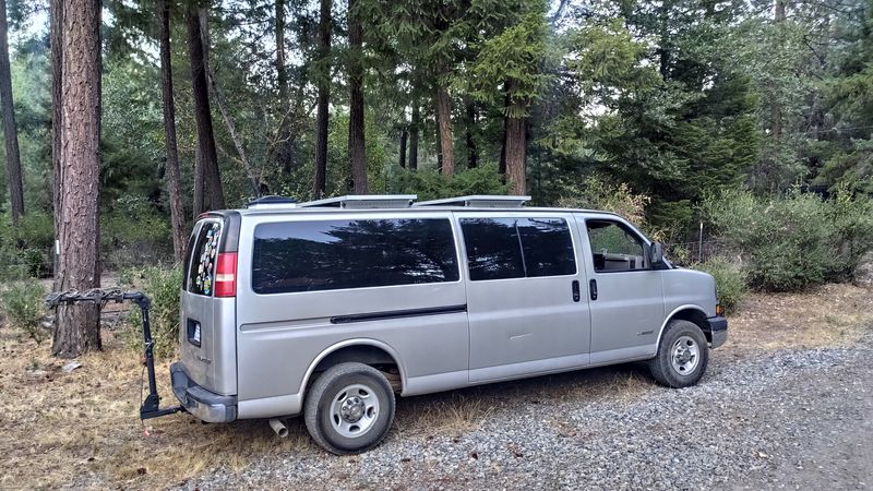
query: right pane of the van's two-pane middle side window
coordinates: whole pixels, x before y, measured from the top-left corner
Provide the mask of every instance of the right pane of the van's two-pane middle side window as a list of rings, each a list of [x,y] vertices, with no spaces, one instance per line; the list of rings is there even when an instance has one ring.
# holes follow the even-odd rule
[[[566,220],[525,218],[516,224],[522,236],[528,277],[576,274],[573,239]]]

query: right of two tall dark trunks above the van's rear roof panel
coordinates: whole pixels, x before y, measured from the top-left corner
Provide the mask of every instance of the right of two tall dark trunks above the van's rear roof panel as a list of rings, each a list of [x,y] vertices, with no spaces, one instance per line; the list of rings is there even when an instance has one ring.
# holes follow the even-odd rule
[[[348,159],[355,194],[367,194],[367,155],[363,134],[363,29],[357,0],[348,0],[348,63],[349,115]]]

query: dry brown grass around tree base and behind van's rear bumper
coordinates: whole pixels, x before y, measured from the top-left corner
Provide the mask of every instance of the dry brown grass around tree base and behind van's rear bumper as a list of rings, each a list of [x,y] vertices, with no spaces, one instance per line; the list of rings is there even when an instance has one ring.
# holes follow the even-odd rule
[[[140,355],[111,333],[104,344],[64,373],[45,344],[0,330],[0,488],[167,488],[267,454],[315,452],[301,424],[279,440],[264,421],[202,424],[177,415],[146,421],[144,435]],[[157,373],[172,404],[168,363]]]

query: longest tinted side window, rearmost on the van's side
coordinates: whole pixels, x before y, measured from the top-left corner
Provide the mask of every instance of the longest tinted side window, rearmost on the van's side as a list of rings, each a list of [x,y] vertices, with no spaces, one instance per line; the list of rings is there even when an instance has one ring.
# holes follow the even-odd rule
[[[288,221],[254,230],[258,294],[456,282],[449,219]]]

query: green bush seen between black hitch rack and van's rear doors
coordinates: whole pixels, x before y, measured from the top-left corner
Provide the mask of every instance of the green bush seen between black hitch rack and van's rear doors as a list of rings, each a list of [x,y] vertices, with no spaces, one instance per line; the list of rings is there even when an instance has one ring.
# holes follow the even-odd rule
[[[129,268],[121,274],[125,289],[140,289],[152,301],[148,319],[155,338],[155,357],[170,357],[179,339],[179,288],[182,284],[181,267],[145,266]],[[142,346],[142,315],[132,309],[128,318],[128,345],[136,350]]]

